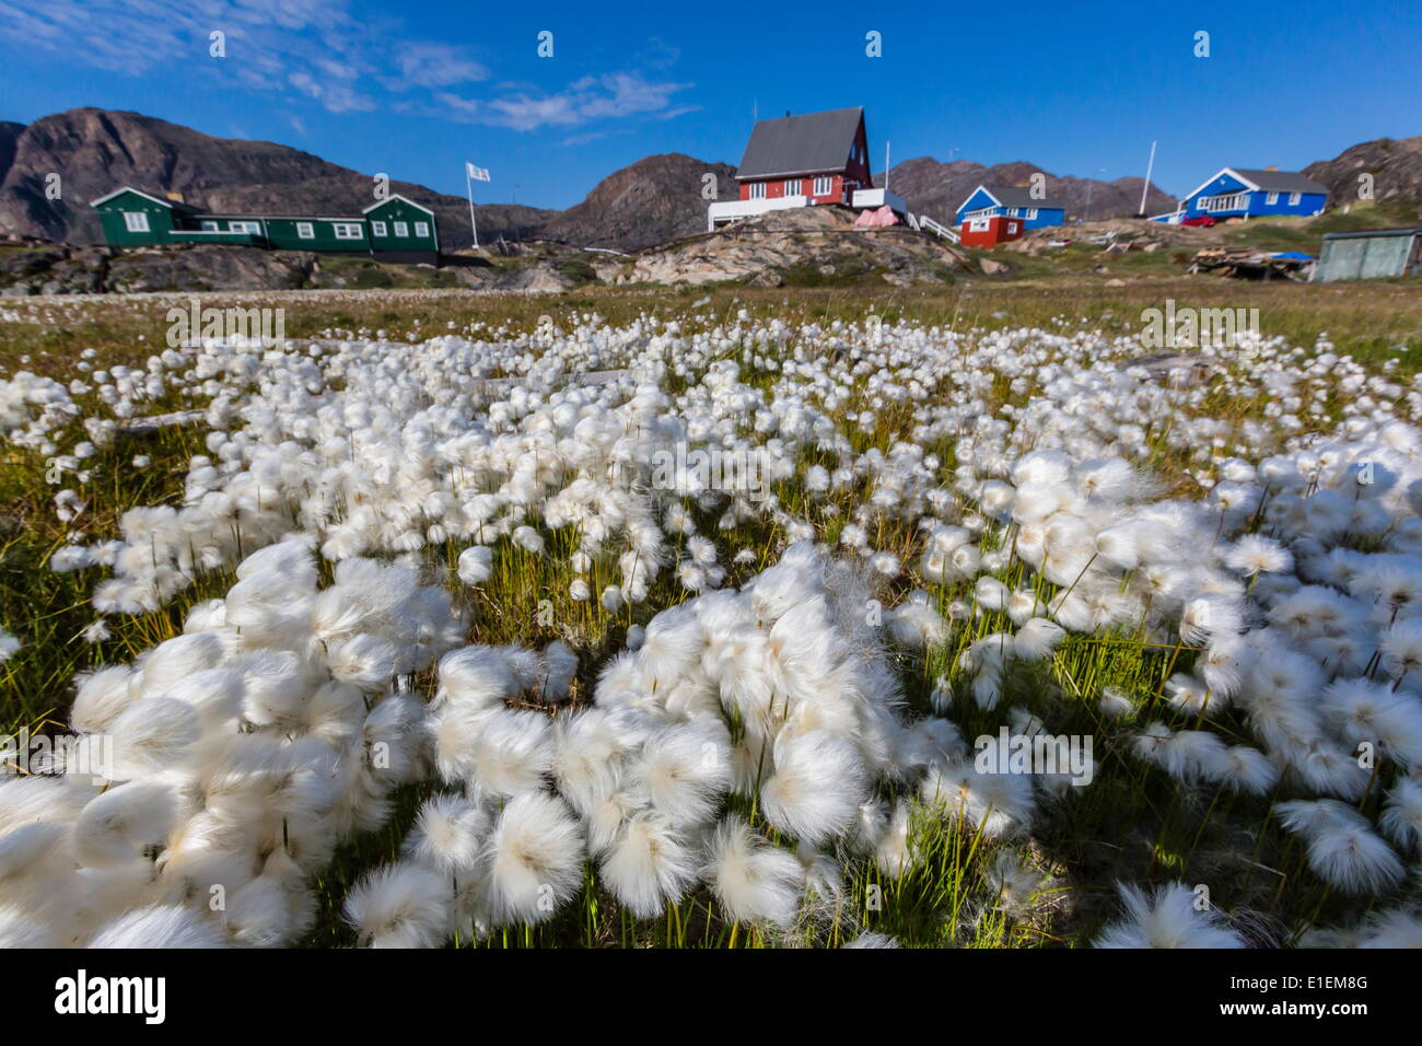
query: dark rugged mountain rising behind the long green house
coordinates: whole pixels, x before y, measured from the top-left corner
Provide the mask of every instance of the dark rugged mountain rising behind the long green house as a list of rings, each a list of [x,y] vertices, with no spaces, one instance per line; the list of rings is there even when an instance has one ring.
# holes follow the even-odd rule
[[[18,130],[14,130],[18,128]],[[46,176],[61,198],[46,198]],[[213,138],[138,112],[70,110],[28,127],[0,124],[0,229],[70,243],[102,239],[88,201],[119,185],[181,192],[218,212],[360,213],[374,202],[370,175],[274,142]],[[469,204],[411,182],[391,191],[434,209],[447,248],[469,246]],[[556,212],[475,208],[481,238],[526,236]]]

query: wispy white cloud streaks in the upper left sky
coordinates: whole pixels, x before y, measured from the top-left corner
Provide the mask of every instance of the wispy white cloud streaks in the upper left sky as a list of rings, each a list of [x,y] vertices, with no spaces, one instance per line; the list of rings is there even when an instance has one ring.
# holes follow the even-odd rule
[[[208,77],[223,87],[283,93],[330,112],[381,105],[515,131],[573,130],[627,118],[670,120],[691,84],[641,71],[584,75],[562,90],[469,84],[491,71],[465,48],[405,38],[398,23],[356,17],[353,0],[0,0],[0,37],[134,77]],[[209,54],[225,34],[226,57]],[[651,38],[641,68],[664,67],[675,47]],[[590,141],[573,135],[569,141]]]

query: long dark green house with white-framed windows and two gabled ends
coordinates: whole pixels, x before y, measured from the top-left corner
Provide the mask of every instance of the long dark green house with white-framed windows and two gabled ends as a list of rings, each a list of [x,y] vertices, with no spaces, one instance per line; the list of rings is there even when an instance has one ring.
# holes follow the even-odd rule
[[[124,186],[91,202],[104,241],[115,248],[164,243],[240,243],[273,250],[371,255],[392,262],[438,262],[435,212],[401,195],[360,215],[223,215]]]

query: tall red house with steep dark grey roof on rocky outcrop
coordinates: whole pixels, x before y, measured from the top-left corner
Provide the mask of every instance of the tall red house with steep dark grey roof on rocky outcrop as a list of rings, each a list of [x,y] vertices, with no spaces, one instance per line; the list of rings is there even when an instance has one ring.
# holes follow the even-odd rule
[[[863,105],[758,121],[735,179],[741,199],[852,202],[855,189],[873,188]]]

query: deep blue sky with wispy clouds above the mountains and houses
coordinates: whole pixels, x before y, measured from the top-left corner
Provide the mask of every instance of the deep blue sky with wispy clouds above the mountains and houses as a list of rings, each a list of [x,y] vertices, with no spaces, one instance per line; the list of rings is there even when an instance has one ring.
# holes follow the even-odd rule
[[[764,14],[755,14],[759,10]],[[293,145],[476,201],[567,206],[653,152],[735,164],[786,110],[865,105],[875,169],[950,157],[1290,169],[1422,134],[1422,7],[0,0],[0,120],[78,105]],[[209,56],[210,33],[226,57]],[[539,57],[539,34],[553,56]],[[866,56],[866,33],[882,57]],[[1209,57],[1194,57],[1196,33]],[[1102,174],[1105,168],[1105,174]]]

